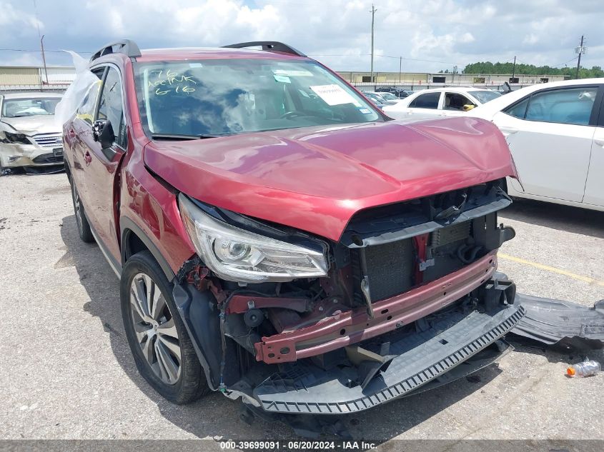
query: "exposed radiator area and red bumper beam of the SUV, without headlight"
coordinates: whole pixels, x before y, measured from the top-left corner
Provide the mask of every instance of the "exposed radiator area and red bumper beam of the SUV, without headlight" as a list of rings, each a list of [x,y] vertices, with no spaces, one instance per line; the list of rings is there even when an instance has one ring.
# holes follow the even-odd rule
[[[208,364],[214,367],[217,386],[229,388],[255,362],[310,359],[316,364],[333,352],[360,364],[367,359],[351,358],[350,346],[378,336],[381,341],[393,331],[417,331],[418,325],[428,325],[427,316],[446,308],[465,306],[467,311],[473,306],[484,311],[485,287],[497,267],[496,250],[514,236],[512,228],[497,225],[497,210],[511,202],[503,183],[361,211],[339,242],[325,243],[330,270],[323,278],[242,286],[212,276],[199,260],[190,261],[179,273],[189,283],[188,295],[179,296],[182,286],[174,295],[207,299],[212,325],[202,320],[205,313],[189,325],[199,328],[193,337],[201,334],[220,341],[213,351],[208,347],[210,355],[222,350],[214,366]],[[221,214],[223,221],[238,220]],[[248,228],[262,227],[253,219],[247,221]],[[306,238],[273,225],[265,229],[264,235],[272,233],[282,240]],[[196,313],[195,306],[190,307],[185,318]],[[383,344],[372,362],[390,354],[390,346]],[[357,346],[355,353],[364,356],[365,348]],[[375,374],[362,380],[368,382]]]

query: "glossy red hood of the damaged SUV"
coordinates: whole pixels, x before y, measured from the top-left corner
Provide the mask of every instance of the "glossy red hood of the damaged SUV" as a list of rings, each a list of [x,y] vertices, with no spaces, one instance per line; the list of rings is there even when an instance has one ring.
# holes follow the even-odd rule
[[[474,118],[152,141],[144,161],[195,199],[332,240],[362,209],[515,174],[503,136]]]

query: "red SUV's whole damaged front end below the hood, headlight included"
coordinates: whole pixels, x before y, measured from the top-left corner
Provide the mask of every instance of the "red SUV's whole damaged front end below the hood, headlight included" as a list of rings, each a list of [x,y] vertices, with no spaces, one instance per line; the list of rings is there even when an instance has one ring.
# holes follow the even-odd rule
[[[351,413],[495,361],[525,315],[495,272],[515,235],[497,225],[503,184],[360,211],[337,242],[181,195],[203,261],[174,299],[209,386],[269,413]]]

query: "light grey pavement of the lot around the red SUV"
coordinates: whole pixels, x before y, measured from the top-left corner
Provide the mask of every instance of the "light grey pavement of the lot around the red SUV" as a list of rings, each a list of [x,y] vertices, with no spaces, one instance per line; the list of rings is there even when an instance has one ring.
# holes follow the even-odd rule
[[[604,298],[604,213],[518,201],[500,271],[519,291],[591,306]],[[250,439],[288,427],[238,418],[214,393],[164,401],[138,375],[118,281],[79,241],[64,174],[0,177],[0,438]],[[590,358],[604,362],[602,351]],[[346,419],[355,438],[604,439],[604,374],[565,376],[568,356],[517,346],[475,378]]]

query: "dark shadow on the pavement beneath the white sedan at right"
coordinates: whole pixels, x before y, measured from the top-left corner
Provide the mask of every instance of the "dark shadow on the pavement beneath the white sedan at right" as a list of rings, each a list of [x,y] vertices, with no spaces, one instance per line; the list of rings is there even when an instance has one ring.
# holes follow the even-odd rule
[[[514,199],[511,206],[500,212],[500,216],[558,231],[604,238],[604,212],[600,211],[532,199]]]

